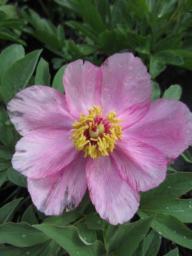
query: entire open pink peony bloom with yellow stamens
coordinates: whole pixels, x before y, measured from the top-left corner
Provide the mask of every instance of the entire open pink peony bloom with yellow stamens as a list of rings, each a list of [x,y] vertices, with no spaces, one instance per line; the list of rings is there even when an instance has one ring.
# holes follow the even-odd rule
[[[178,100],[150,101],[147,68],[131,53],[102,67],[74,61],[63,83],[65,95],[35,85],[8,104],[23,136],[13,168],[47,215],[76,208],[88,187],[100,217],[124,223],[138,210],[139,191],[163,182],[167,164],[188,148],[192,115]]]

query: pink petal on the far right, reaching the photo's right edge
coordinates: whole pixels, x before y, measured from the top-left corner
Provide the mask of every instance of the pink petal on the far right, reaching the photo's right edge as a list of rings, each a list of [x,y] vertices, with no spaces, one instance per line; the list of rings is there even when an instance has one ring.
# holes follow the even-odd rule
[[[174,159],[192,142],[192,114],[179,100],[159,99],[126,132]]]

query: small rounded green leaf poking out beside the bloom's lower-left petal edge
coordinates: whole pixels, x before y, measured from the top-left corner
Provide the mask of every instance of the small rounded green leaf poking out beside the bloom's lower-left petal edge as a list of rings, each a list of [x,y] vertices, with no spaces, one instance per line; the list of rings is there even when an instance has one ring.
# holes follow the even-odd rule
[[[6,175],[13,184],[24,188],[27,187],[26,177],[14,170],[12,167],[8,168],[8,170],[6,171]]]

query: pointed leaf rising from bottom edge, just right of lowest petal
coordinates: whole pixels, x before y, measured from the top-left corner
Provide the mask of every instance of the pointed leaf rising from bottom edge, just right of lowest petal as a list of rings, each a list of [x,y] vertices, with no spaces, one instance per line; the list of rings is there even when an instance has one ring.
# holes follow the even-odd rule
[[[115,256],[131,256],[147,234],[154,216],[122,225],[109,240],[109,251]]]

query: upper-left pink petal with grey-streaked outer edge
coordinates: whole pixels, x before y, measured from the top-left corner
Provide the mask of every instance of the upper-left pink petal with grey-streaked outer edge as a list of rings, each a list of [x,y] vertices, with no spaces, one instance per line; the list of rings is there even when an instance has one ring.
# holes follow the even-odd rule
[[[8,103],[10,120],[23,136],[38,129],[71,129],[65,96],[47,86],[31,86]]]

